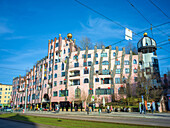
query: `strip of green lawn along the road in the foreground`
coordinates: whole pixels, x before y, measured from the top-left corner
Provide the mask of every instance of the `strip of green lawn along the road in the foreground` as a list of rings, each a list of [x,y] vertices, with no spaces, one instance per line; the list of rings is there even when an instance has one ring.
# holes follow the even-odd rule
[[[1,118],[10,118],[15,120],[29,121],[33,123],[40,123],[46,125],[60,126],[65,128],[151,128],[149,126],[136,126],[136,125],[125,125],[115,123],[104,123],[104,122],[92,122],[92,121],[81,121],[81,120],[67,120],[58,118],[47,118],[38,116],[27,116],[16,113],[0,114]],[[154,127],[158,128],[158,127]]]

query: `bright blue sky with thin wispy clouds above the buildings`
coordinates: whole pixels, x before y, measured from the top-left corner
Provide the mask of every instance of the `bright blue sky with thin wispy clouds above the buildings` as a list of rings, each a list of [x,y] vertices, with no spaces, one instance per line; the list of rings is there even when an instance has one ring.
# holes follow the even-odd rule
[[[127,0],[80,1],[135,33],[150,27]],[[170,16],[169,0],[152,1]],[[149,0],[130,2],[153,25],[170,21]],[[170,35],[170,24],[159,29]],[[72,33],[77,44],[83,36],[87,36],[93,43],[102,41],[107,46],[124,39],[124,31],[122,27],[74,0],[0,0],[0,83],[12,84],[13,77],[25,75],[26,70],[47,55],[48,40],[58,37],[59,34],[64,38],[67,33]],[[150,31],[148,35],[152,37]],[[131,42],[136,45],[140,38],[134,36]],[[157,29],[153,29],[153,38],[156,42],[168,40],[168,36]],[[117,46],[121,50],[128,42],[123,41]],[[170,45],[163,48],[169,50]],[[170,56],[161,49],[157,50],[157,54],[159,59]],[[161,73],[170,67],[169,62],[169,59],[159,61]]]

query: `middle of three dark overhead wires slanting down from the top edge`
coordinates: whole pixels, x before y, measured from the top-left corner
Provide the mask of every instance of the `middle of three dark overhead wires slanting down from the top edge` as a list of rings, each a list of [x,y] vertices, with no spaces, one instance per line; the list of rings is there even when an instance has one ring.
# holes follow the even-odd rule
[[[127,0],[127,2],[151,25],[151,33],[152,33],[152,28],[154,27],[154,25],[129,1]],[[162,30],[156,28],[158,31],[162,32],[164,35],[169,36],[167,33],[163,32]]]

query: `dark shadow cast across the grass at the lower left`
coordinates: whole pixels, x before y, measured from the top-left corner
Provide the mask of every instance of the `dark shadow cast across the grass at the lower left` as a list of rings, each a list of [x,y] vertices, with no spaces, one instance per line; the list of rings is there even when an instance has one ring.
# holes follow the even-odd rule
[[[9,116],[7,117],[8,119],[12,119],[12,121],[15,121],[15,126],[14,127],[24,127],[24,128],[38,128],[38,126],[36,126],[36,124],[34,122],[32,122],[31,120],[29,120],[27,117],[22,116],[20,114],[16,114],[14,116]],[[18,123],[17,123],[18,122]],[[28,125],[26,125],[28,124]]]

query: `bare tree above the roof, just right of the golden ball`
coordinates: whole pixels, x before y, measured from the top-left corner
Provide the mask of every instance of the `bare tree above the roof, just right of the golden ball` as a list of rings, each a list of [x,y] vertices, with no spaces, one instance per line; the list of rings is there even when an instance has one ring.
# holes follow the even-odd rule
[[[90,38],[82,37],[82,39],[80,40],[80,48],[82,50],[85,50],[86,47],[88,47],[88,49],[92,49],[93,48],[93,43],[91,42]]]

